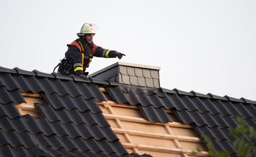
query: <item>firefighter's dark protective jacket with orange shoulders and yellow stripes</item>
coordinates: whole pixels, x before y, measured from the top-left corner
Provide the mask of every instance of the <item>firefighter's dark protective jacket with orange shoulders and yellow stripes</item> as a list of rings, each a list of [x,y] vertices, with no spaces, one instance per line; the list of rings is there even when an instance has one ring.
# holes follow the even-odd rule
[[[72,65],[71,73],[76,76],[82,75],[89,66],[93,57],[115,58],[115,50],[107,50],[96,46],[93,42],[88,45],[83,41],[82,37],[67,44],[68,51],[65,53],[66,59]]]

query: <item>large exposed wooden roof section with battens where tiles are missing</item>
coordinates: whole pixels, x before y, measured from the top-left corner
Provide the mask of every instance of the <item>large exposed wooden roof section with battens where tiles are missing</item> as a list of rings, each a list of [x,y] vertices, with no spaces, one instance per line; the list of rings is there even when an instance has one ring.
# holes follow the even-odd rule
[[[100,87],[107,94],[106,89]],[[200,148],[197,157],[209,156],[207,148],[191,125],[178,121],[171,110],[169,123],[150,123],[136,105],[119,104],[115,101],[97,102],[129,153],[151,154],[154,157],[190,157]]]

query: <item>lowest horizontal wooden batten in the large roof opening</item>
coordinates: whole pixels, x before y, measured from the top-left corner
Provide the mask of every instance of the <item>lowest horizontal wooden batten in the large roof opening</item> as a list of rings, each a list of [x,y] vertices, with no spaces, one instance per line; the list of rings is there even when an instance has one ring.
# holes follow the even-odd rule
[[[192,152],[193,152],[193,150],[151,146],[151,145],[138,144],[138,143],[123,143],[122,142],[122,145],[125,148],[138,148],[138,149],[144,149],[144,150],[150,150],[150,151],[173,152],[173,153],[187,154],[187,155],[192,155]],[[197,153],[197,156],[204,156],[205,157],[205,156],[209,156],[209,153],[202,151],[202,152]]]

